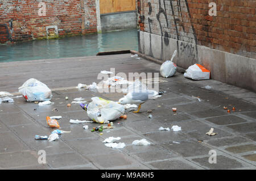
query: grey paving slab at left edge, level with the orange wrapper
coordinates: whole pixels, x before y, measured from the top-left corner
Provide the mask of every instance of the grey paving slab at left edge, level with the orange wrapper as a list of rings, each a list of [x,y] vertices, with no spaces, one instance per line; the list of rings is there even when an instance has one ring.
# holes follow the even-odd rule
[[[0,120],[6,125],[22,125],[34,123],[31,117],[25,116],[22,112],[2,114],[0,116]]]

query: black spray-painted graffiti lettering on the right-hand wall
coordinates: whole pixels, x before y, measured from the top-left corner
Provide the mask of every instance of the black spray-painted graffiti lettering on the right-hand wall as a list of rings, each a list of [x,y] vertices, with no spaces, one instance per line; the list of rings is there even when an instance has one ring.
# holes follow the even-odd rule
[[[170,6],[171,6],[171,10],[168,13],[168,10],[166,9],[166,2],[164,0],[159,0],[159,9],[158,9],[158,13],[156,14],[156,19],[158,20],[159,23],[159,27],[160,27],[160,33],[162,36],[164,36],[164,42],[163,40],[161,40],[161,59],[163,59],[163,43],[168,46],[170,44],[170,36],[168,32],[164,32],[163,31],[163,26],[162,24],[164,22],[161,22],[160,16],[163,15],[164,19],[166,21],[166,26],[167,28],[169,27],[169,24],[172,24],[172,21],[174,22],[175,25],[175,31],[176,31],[176,39],[177,40],[181,40],[180,39],[180,33],[179,33],[179,27],[182,28],[183,32],[185,32],[185,27],[184,27],[184,15],[183,12],[188,12],[188,18],[189,20],[191,20],[191,13],[189,12],[189,8],[188,8],[188,2],[187,0],[184,0],[184,5],[185,6],[181,6],[181,0],[169,0],[170,1]],[[177,11],[174,11],[175,7],[173,5],[173,2],[177,2]],[[175,12],[177,12],[175,14]],[[148,15],[152,14],[152,5],[150,2],[148,2]],[[172,16],[172,19],[169,19],[170,23],[168,22],[168,17],[167,14],[170,14]],[[178,17],[178,18],[177,18]],[[148,24],[149,24],[149,28],[150,28],[150,34],[152,33],[151,30],[151,24],[152,24],[153,20],[151,18],[148,17]],[[195,33],[195,28],[193,27],[192,23],[190,22],[190,27],[192,30],[192,34],[193,34],[193,40],[195,42],[193,42],[193,44],[189,44],[189,43],[185,43],[181,40],[181,43],[179,43],[179,41],[176,41],[176,46],[177,46],[177,51],[179,54],[187,54],[187,56],[190,56],[192,58],[196,58],[197,57],[197,37],[196,37],[196,33]],[[188,33],[188,32],[185,32]],[[150,35],[150,55],[152,56],[152,48],[151,48],[151,35]]]

